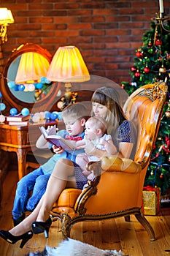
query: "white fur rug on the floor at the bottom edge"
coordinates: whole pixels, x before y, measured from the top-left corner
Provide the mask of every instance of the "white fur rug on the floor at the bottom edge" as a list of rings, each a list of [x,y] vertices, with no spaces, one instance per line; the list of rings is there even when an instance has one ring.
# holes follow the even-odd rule
[[[58,247],[45,246],[43,252],[30,252],[26,256],[123,256],[123,252],[116,250],[98,249],[90,244],[82,243],[71,238],[63,240]],[[125,255],[124,255],[125,256]],[[128,255],[126,255],[128,256]]]

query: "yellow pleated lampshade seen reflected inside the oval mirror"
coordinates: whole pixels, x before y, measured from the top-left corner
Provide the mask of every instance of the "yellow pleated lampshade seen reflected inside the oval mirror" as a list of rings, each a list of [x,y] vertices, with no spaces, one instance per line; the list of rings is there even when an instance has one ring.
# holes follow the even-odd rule
[[[15,83],[34,83],[47,76],[49,61],[39,53],[23,53],[18,65]]]

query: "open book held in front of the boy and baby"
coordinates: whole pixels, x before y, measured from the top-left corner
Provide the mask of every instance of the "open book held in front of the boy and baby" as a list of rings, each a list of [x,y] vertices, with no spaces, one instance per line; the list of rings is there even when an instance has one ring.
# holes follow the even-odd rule
[[[72,140],[65,140],[63,137],[56,135],[55,125],[49,131],[47,131],[45,127],[39,127],[39,129],[41,130],[42,135],[44,135],[44,138],[54,146],[61,147],[66,151],[74,149]]]

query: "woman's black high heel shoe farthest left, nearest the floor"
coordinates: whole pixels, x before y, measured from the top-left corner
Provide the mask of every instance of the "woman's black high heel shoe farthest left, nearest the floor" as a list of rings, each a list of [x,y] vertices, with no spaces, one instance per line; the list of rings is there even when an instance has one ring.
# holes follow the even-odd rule
[[[17,241],[22,240],[20,243],[20,248],[23,248],[26,242],[33,237],[33,233],[32,231],[28,231],[21,236],[13,236],[11,233],[9,233],[9,231],[0,230],[0,236],[9,244],[15,244]]]

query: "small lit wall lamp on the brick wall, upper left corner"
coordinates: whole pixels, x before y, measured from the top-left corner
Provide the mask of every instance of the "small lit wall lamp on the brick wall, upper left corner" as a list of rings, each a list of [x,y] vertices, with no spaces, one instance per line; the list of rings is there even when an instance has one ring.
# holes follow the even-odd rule
[[[1,42],[7,42],[7,26],[10,23],[14,23],[12,12],[7,8],[0,8],[0,37]]]

